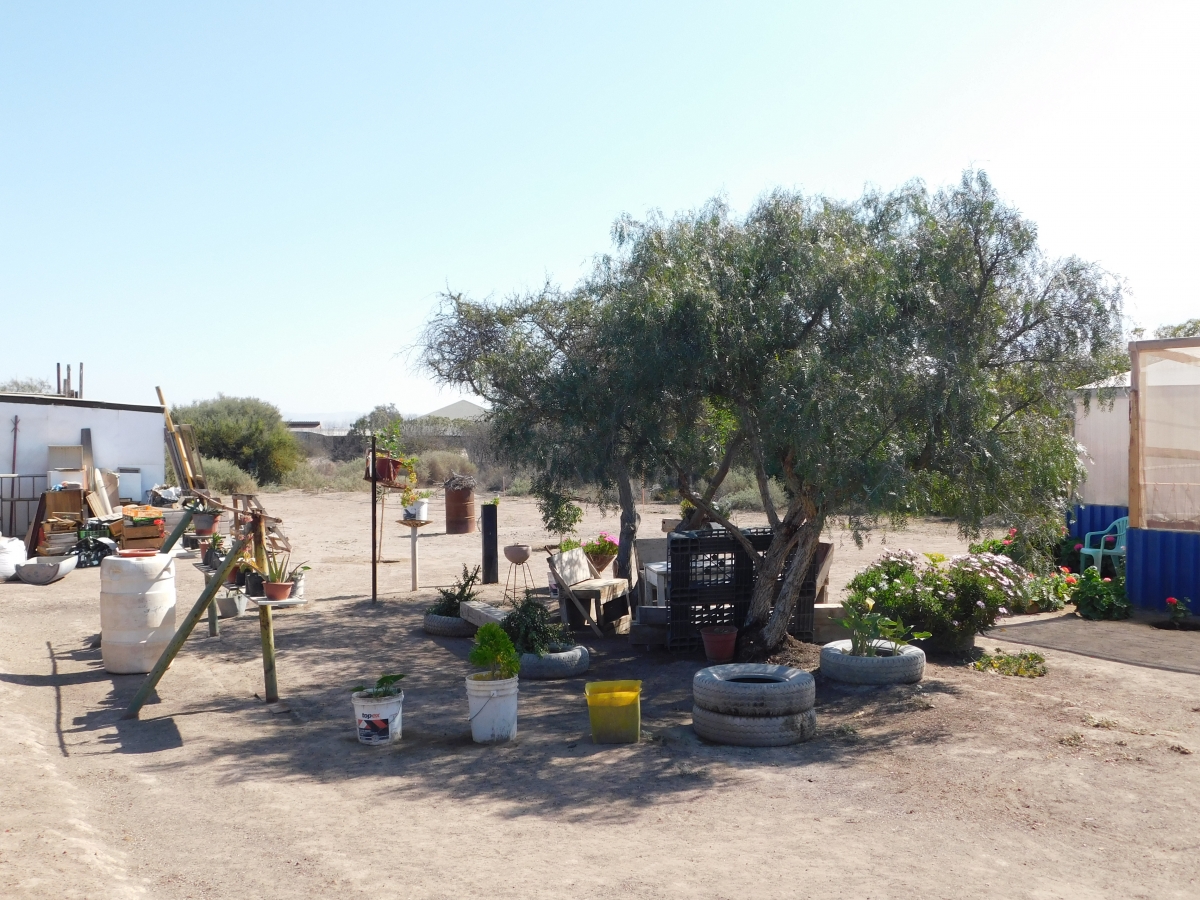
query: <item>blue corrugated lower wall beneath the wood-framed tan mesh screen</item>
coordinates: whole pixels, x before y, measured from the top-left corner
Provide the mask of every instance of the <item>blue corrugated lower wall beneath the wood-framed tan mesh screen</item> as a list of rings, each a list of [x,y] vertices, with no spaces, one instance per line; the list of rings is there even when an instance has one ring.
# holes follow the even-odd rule
[[[1188,598],[1200,613],[1200,534],[1130,528],[1126,593],[1142,610],[1166,611],[1166,598]]]

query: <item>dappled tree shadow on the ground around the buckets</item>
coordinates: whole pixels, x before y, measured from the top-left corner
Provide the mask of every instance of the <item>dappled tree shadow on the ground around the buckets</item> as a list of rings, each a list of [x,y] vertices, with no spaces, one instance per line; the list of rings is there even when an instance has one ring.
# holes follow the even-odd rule
[[[479,745],[470,738],[463,686],[473,671],[470,640],[425,635],[422,613],[424,604],[360,600],[277,616],[281,696],[290,714],[269,715],[262,706],[230,701],[228,713],[218,715],[233,721],[222,722],[197,763],[214,767],[227,782],[370,779],[372,796],[380,799],[502,802],[512,816],[619,820],[641,808],[686,803],[697,791],[722,790],[746,779],[751,767],[853,766],[898,742],[936,743],[947,734],[932,722],[913,727],[913,685],[863,691],[822,683],[814,740],[785,748],[708,744],[691,730],[691,679],[707,665],[701,656],[637,653],[624,637],[581,634],[592,671],[566,680],[523,680],[517,738]],[[257,662],[257,619],[226,620],[220,641],[190,642],[187,653],[214,666]],[[407,673],[403,737],[364,746],[355,737],[349,689],[384,671]],[[643,739],[595,745],[583,684],[626,678],[642,680]],[[950,689],[922,688],[938,690]],[[182,710],[214,707],[197,701]],[[864,710],[874,727],[838,731]],[[134,745],[130,727],[118,737],[122,746]]]

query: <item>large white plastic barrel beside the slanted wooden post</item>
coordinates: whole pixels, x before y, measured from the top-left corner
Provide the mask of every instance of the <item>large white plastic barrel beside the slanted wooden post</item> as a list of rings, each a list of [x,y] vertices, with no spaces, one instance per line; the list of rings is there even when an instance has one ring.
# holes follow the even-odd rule
[[[175,634],[175,562],[169,556],[100,563],[100,630],[104,668],[149,672]]]

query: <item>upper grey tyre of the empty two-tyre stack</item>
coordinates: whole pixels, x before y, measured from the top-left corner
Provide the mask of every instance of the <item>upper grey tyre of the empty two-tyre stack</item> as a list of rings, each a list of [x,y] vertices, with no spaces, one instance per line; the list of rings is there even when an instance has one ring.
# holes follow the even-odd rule
[[[817,686],[808,672],[790,666],[734,662],[700,670],[691,695],[701,709],[737,716],[806,713]]]

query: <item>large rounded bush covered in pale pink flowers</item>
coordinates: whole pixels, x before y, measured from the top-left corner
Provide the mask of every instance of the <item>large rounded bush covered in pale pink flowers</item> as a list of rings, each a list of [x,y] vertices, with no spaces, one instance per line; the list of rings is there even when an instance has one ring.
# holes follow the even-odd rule
[[[875,600],[876,612],[958,641],[991,628],[998,616],[1027,605],[1028,575],[1007,557],[972,553],[947,564],[920,564],[910,550],[888,551],[856,575],[847,605]]]

